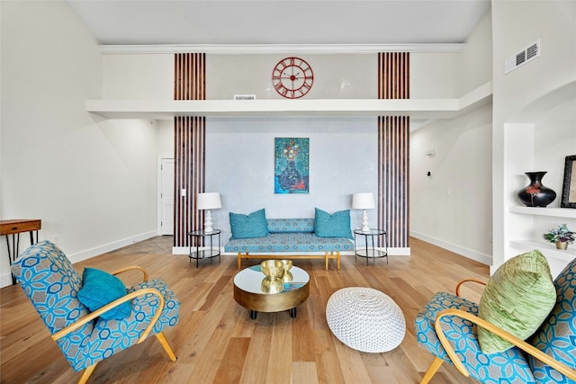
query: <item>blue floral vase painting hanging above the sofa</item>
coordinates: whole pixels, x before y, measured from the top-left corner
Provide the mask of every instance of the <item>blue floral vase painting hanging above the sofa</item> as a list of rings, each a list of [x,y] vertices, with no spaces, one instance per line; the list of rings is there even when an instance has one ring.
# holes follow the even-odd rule
[[[310,193],[310,138],[275,138],[275,193]]]

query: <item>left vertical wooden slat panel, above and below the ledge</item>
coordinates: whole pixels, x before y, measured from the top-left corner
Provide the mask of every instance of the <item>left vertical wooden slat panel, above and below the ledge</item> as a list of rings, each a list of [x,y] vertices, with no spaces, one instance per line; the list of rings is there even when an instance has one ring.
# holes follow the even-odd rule
[[[175,100],[205,99],[205,60],[204,53],[175,54]],[[190,246],[188,232],[203,226],[203,212],[196,210],[196,194],[205,187],[205,118],[177,116],[174,127],[174,246]]]

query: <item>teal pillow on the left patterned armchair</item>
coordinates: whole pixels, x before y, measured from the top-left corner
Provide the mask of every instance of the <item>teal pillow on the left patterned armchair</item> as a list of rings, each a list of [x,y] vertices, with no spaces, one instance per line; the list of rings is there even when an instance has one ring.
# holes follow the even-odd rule
[[[80,302],[92,312],[126,295],[126,286],[119,278],[99,269],[85,268],[82,272],[82,281],[82,288],[78,290],[77,296]],[[100,317],[105,320],[121,320],[129,317],[131,312],[130,301],[126,301],[104,312]]]

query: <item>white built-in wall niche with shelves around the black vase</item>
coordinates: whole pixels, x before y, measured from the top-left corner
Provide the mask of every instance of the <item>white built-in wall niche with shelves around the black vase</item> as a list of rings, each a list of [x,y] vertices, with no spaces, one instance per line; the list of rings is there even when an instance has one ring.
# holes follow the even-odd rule
[[[526,184],[523,174],[527,168],[551,169],[551,164],[563,164],[564,156],[572,155],[572,150],[566,144],[572,141],[564,141],[560,151],[551,148],[558,147],[554,145],[554,141],[566,135],[566,127],[572,126],[574,122],[572,105],[576,103],[575,96],[576,80],[570,80],[536,97],[504,122],[502,127],[504,183],[500,196],[504,197],[505,209],[501,212],[502,243],[495,243],[494,246],[495,253],[502,252],[503,258],[495,255],[494,260],[497,263],[492,272],[510,257],[533,249],[540,250],[546,256],[553,276],[576,257],[576,244],[569,245],[567,250],[559,250],[554,244],[545,242],[541,235],[547,228],[561,223],[566,223],[568,228],[573,229],[576,226],[576,209],[557,206],[525,207],[516,199],[518,188]],[[563,125],[555,123],[559,116],[564,121]],[[498,129],[500,127],[494,127],[494,132]],[[572,139],[572,136],[569,138]],[[558,187],[559,185],[556,185],[556,188]],[[500,212],[495,214],[500,215]],[[497,241],[500,242],[500,239]]]

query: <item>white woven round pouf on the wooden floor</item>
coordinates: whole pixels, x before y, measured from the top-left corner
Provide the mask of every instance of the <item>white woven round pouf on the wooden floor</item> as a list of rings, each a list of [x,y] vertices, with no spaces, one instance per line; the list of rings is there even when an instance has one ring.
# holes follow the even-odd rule
[[[392,351],[406,334],[401,308],[372,288],[350,287],[334,292],[326,305],[326,320],[338,340],[361,352]]]

